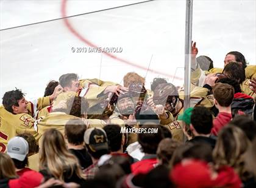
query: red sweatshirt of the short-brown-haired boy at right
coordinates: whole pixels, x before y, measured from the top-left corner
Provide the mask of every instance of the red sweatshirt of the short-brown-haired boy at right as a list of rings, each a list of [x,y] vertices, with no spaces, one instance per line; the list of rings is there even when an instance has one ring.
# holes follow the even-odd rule
[[[244,113],[241,111],[238,111],[240,115],[243,115]],[[232,114],[227,112],[219,112],[218,116],[216,116],[215,119],[213,119],[213,128],[212,128],[212,134],[217,136],[219,130],[222,129],[222,127],[226,126],[232,119]]]

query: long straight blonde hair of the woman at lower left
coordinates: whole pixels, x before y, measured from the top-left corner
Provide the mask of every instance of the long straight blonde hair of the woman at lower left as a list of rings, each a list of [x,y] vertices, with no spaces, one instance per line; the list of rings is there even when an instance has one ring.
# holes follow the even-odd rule
[[[79,178],[84,178],[79,161],[66,149],[64,137],[59,130],[49,129],[44,132],[39,160],[39,169],[48,170],[54,178],[64,180],[65,170],[71,172],[71,175],[76,173]]]

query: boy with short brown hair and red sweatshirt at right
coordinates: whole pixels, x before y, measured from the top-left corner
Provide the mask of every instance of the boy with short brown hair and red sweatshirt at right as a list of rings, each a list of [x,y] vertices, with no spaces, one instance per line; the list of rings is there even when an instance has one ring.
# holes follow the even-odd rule
[[[232,119],[231,104],[234,98],[234,89],[229,84],[217,83],[213,87],[215,106],[219,110],[218,116],[213,120],[213,135],[218,135],[219,130],[226,126]],[[243,112],[238,112],[243,114]]]

